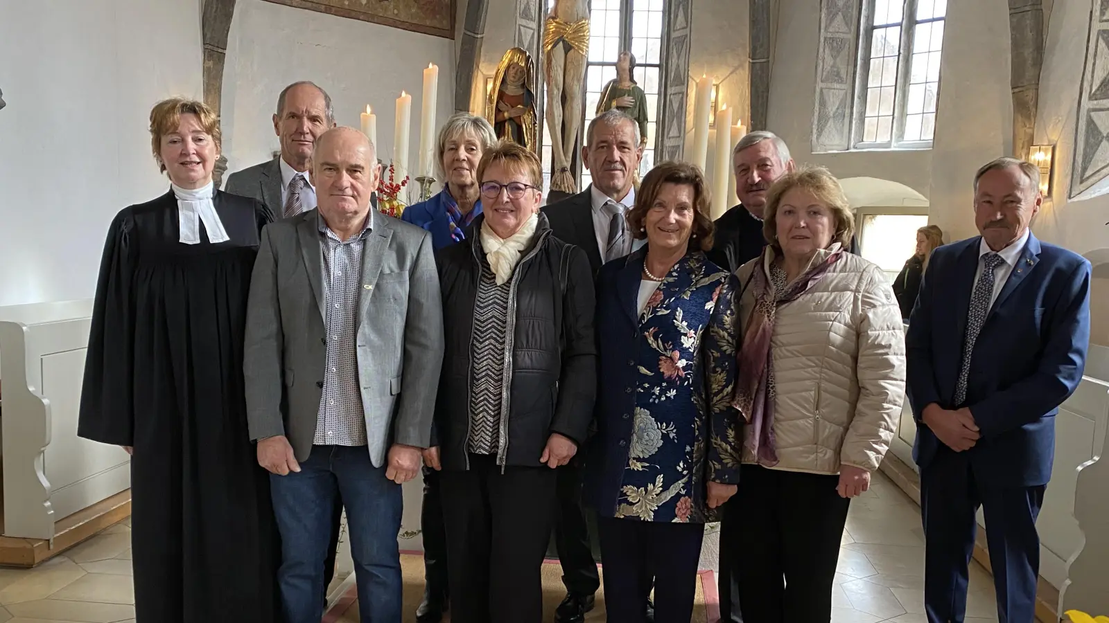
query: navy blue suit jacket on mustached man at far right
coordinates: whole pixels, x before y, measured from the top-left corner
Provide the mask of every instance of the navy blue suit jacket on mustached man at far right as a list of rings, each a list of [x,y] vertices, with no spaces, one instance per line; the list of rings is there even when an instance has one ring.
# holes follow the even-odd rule
[[[1065,248],[1028,244],[975,341],[967,396],[954,405],[967,308],[981,237],[937,248],[909,319],[908,398],[917,421],[913,458],[926,469],[942,441],[924,408],[968,407],[981,439],[966,456],[975,478],[996,487],[1046,484],[1055,415],[1082,378],[1090,338],[1090,264]]]

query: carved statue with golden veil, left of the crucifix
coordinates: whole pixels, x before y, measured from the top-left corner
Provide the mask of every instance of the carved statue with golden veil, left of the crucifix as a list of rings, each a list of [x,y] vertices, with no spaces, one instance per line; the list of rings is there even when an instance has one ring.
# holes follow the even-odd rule
[[[512,48],[501,58],[489,90],[486,116],[498,139],[538,151],[535,63],[522,48]]]

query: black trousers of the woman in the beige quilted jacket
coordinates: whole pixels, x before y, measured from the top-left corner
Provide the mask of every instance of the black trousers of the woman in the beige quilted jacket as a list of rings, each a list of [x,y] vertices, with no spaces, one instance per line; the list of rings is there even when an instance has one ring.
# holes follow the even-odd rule
[[[728,554],[743,620],[828,623],[851,500],[838,476],[743,466]],[[733,604],[734,607],[734,604]]]

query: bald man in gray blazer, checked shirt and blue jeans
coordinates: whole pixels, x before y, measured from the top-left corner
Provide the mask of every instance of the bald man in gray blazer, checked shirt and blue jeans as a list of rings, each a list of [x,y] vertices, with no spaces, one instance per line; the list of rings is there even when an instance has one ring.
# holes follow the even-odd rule
[[[313,157],[317,210],[262,232],[247,307],[251,437],[271,472],[287,623],[318,623],[342,492],[363,621],[400,621],[400,483],[430,442],[442,307],[430,235],[369,208],[379,167],[337,127]]]

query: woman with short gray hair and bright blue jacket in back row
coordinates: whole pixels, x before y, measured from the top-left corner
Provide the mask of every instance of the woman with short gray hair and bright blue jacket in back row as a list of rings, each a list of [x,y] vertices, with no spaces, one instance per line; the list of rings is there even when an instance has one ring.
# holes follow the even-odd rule
[[[478,163],[496,144],[492,125],[469,113],[455,113],[439,129],[435,155],[442,191],[406,207],[400,215],[406,223],[430,232],[436,251],[466,239],[466,229],[481,214]]]

